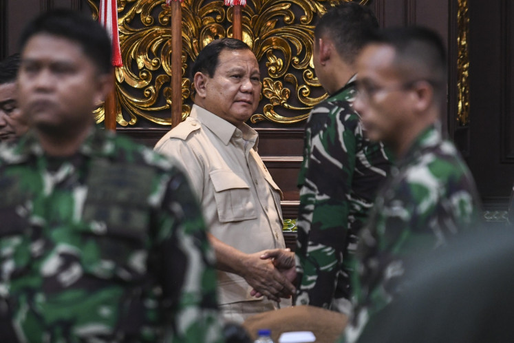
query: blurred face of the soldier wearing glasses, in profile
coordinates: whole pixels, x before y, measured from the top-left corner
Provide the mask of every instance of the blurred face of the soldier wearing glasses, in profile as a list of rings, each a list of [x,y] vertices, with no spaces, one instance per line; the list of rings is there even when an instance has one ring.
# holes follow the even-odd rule
[[[392,65],[394,54],[387,45],[372,44],[358,56],[354,108],[361,114],[368,138],[396,145],[399,133],[409,129],[414,115],[409,88]]]

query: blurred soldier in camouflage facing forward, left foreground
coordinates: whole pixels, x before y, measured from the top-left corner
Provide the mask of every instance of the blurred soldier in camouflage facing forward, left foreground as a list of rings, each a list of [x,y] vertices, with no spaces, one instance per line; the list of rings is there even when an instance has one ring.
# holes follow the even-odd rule
[[[220,342],[214,254],[186,176],[93,125],[105,30],[41,15],[21,39],[33,132],[0,147],[1,342]]]

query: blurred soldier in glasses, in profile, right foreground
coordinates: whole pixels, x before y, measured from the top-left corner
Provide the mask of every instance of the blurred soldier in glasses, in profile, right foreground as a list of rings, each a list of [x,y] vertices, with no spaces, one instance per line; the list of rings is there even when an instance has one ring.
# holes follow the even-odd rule
[[[370,138],[391,147],[397,160],[361,231],[352,277],[356,306],[345,342],[372,330],[374,315],[394,301],[409,271],[405,260],[478,225],[480,207],[467,166],[440,134],[446,94],[440,37],[424,28],[377,32],[357,68],[356,110]]]

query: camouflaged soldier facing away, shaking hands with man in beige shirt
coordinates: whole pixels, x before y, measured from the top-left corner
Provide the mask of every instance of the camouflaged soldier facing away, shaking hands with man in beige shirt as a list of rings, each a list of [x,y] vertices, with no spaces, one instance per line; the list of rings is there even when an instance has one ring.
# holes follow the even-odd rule
[[[378,23],[365,6],[341,3],[314,30],[314,67],[330,97],[314,107],[299,174],[297,304],[350,313],[347,261],[389,162],[364,136],[353,109],[356,54]]]

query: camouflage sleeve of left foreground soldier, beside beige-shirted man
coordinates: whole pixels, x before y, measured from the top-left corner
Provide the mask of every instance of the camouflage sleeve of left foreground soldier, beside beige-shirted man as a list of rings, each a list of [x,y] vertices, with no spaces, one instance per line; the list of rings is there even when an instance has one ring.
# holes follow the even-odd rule
[[[165,342],[222,342],[214,253],[201,210],[182,172],[167,182],[158,218]]]

